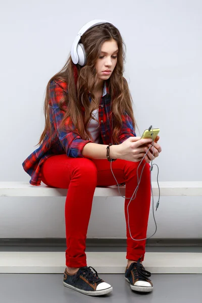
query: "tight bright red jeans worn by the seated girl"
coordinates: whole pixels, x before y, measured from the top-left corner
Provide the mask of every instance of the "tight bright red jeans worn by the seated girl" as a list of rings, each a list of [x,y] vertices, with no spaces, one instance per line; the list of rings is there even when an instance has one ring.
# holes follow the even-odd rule
[[[131,197],[137,186],[137,167],[140,162],[117,159],[112,163],[113,173],[118,183],[126,183],[126,197]],[[145,161],[138,168],[138,178]],[[150,208],[150,165],[145,164],[139,188],[134,200],[131,200],[128,212],[130,231],[134,239],[146,238]],[[86,234],[90,219],[92,199],[96,186],[116,185],[106,159],[72,158],[65,154],[49,157],[41,166],[41,180],[48,186],[68,188],[65,203],[66,224],[66,266],[86,266]],[[133,196],[134,197],[134,196]],[[125,199],[125,218],[127,236],[126,259],[144,260],[146,240],[131,239],[127,223],[127,205]],[[113,228],[113,226],[112,226]]]

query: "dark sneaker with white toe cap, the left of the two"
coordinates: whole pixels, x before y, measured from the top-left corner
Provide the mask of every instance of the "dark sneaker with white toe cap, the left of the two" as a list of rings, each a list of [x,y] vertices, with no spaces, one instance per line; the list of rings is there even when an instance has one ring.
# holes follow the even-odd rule
[[[93,273],[90,268],[92,268],[95,273]],[[91,266],[79,268],[74,275],[68,274],[66,268],[64,272],[63,284],[66,287],[75,289],[88,295],[102,295],[111,292],[113,289],[110,284],[106,283],[97,276],[96,270]]]

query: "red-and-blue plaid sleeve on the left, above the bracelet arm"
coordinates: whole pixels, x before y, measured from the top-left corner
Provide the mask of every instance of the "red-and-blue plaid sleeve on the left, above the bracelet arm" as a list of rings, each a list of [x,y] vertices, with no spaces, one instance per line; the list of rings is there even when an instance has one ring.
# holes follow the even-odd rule
[[[90,140],[83,140],[78,133],[72,131],[75,127],[72,122],[67,121],[65,123],[65,130],[59,129],[60,123],[62,122],[65,112],[59,107],[59,102],[64,97],[64,88],[55,80],[50,82],[49,89],[49,116],[51,123],[54,125],[56,134],[66,151],[67,156],[73,158],[84,158],[82,150],[85,144],[92,142]],[[71,128],[68,130],[68,123],[71,123]]]

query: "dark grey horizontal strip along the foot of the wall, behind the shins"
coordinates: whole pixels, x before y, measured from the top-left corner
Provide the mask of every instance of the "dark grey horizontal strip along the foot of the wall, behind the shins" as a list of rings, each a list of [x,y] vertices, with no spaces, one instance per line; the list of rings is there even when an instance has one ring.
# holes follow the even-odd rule
[[[50,246],[66,247],[65,238],[1,238],[0,246]],[[126,246],[126,239],[87,238],[86,247]],[[151,238],[146,241],[146,247],[179,247],[202,246],[202,238]]]

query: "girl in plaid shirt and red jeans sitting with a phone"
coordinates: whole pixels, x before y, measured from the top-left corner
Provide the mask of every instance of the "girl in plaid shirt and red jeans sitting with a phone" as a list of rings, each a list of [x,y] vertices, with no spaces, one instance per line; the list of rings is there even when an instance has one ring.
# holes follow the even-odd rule
[[[47,83],[40,146],[22,164],[31,176],[30,184],[38,186],[42,181],[51,187],[68,188],[63,283],[88,295],[112,291],[112,286],[86,264],[85,240],[95,187],[116,184],[111,172],[113,161],[117,182],[126,185],[127,222],[128,198],[137,186],[136,170],[150,148],[140,165],[140,172],[145,167],[129,208],[132,236],[145,238],[150,207],[149,163],[161,152],[159,136],[153,147],[150,139],[135,134],[132,98],[123,77],[123,45],[119,30],[105,20],[92,20],[82,27],[65,66]],[[145,240],[133,241],[128,226],[126,235],[125,279],[133,290],[151,291],[151,274],[142,265]]]

